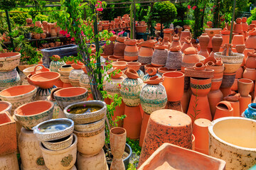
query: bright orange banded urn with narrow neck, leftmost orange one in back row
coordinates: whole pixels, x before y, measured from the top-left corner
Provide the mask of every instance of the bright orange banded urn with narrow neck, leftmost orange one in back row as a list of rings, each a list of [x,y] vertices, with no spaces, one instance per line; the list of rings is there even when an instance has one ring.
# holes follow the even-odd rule
[[[136,45],[136,40],[124,40],[126,45],[124,48],[124,60],[127,61],[136,61],[138,60],[138,47]]]

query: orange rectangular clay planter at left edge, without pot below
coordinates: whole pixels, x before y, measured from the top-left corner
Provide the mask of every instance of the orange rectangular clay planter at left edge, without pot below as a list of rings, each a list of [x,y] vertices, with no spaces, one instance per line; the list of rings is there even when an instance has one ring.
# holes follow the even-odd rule
[[[16,151],[16,122],[8,112],[0,113],[0,133],[0,156]]]

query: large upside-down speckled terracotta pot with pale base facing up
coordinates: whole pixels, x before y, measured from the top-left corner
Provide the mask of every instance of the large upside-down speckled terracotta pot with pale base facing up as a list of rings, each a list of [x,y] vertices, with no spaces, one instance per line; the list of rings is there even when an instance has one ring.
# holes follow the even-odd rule
[[[161,129],[161,130],[159,130]],[[158,136],[158,137],[156,137]],[[139,166],[164,142],[192,149],[192,124],[188,115],[179,111],[162,109],[150,115],[139,158]]]

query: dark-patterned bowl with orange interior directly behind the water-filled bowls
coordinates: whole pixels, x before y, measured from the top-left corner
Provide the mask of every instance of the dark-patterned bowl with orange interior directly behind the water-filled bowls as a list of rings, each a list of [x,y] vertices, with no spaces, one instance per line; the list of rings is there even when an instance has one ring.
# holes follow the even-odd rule
[[[57,101],[58,106],[64,110],[64,108],[71,103],[86,101],[88,90],[83,87],[68,87],[55,91],[53,96]]]

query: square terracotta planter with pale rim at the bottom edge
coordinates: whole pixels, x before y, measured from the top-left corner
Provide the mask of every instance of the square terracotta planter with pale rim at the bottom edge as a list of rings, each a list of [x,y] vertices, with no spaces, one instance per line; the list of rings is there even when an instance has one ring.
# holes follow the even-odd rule
[[[195,161],[196,160],[196,161]],[[184,164],[186,162],[186,164]],[[208,162],[208,164],[204,164]],[[138,170],[153,169],[225,169],[225,162],[221,159],[209,157],[191,149],[178,147],[169,143],[164,143],[156,152],[151,154],[149,159],[139,167]]]

